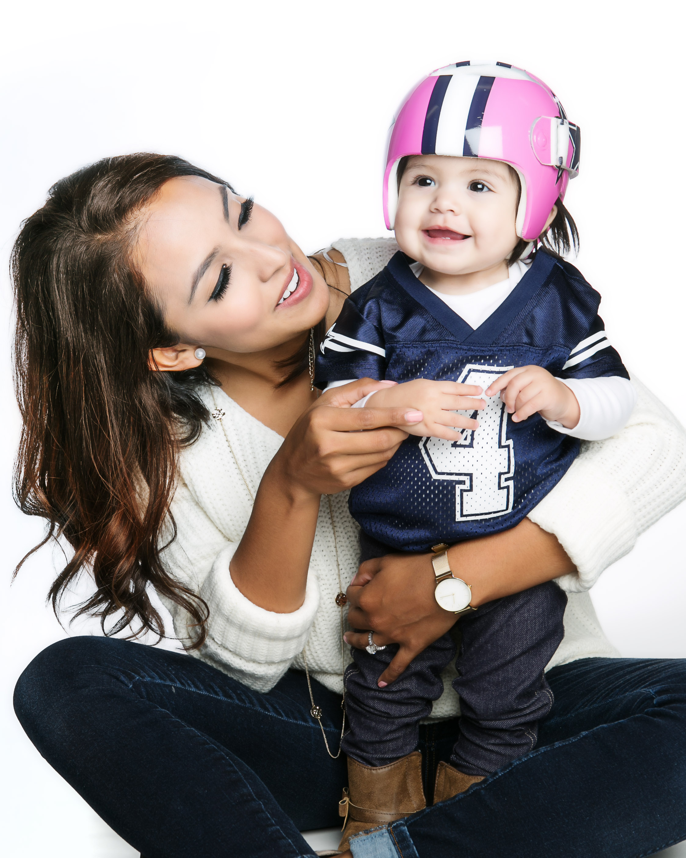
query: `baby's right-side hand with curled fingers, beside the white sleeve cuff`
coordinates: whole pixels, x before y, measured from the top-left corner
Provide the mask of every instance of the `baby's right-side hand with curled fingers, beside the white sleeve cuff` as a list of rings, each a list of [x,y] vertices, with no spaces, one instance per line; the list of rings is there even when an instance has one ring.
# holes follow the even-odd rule
[[[574,429],[581,417],[576,396],[542,366],[517,366],[504,372],[486,390],[486,396],[496,396],[498,390],[515,423],[538,411],[544,420],[557,420],[566,429]]]

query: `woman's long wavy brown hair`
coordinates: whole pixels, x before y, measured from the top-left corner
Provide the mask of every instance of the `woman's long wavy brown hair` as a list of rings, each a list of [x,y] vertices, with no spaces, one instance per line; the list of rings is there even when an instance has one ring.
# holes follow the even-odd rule
[[[178,451],[208,412],[202,367],[150,372],[151,348],[176,344],[132,258],[140,215],[170,178],[201,176],[159,154],[100,160],[49,191],[21,227],[11,257],[15,285],[15,390],[23,428],[15,499],[47,519],[45,542],[64,537],[74,556],[48,598],[57,613],[69,583],[92,571],[93,595],[75,614],[132,634],[164,625],[148,585],[190,616],[193,646],[206,637],[208,606],[165,570],[160,551],[176,528],[169,512]],[[110,627],[105,621],[113,618]],[[135,626],[135,627],[134,627]]]

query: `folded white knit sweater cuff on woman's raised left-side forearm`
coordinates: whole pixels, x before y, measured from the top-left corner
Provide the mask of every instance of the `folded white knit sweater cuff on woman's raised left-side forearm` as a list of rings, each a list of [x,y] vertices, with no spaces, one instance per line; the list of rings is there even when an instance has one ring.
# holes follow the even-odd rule
[[[200,595],[210,609],[208,647],[223,652],[221,661],[290,662],[307,643],[319,607],[316,577],[308,576],[305,599],[297,611],[266,611],[247,599],[232,581],[229,564],[237,547],[232,543],[218,555],[202,583]]]

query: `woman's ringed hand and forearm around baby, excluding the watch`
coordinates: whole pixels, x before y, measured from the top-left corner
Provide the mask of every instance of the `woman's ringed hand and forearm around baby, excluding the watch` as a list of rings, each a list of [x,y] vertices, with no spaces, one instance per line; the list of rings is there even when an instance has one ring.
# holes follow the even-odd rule
[[[396,680],[415,656],[454,625],[454,613],[436,602],[431,557],[407,553],[367,560],[347,589],[352,628],[374,631],[379,646],[400,644],[379,686]],[[575,571],[556,537],[528,518],[502,533],[450,547],[448,562],[454,576],[471,585],[471,605],[477,608]],[[346,631],[346,641],[363,650],[367,635]]]

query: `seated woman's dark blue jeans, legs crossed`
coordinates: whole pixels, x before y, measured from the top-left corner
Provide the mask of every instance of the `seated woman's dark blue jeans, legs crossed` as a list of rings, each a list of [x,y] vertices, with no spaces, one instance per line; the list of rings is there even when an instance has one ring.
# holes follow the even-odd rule
[[[356,843],[356,858],[636,858],[686,839],[686,662],[585,659],[547,677],[535,751]],[[340,698],[314,693],[336,746]],[[75,637],[31,662],[15,711],[147,858],[310,856],[298,830],[339,822],[345,760],[324,750],[303,674],[261,694],[189,656]],[[428,785],[457,733],[420,728]]]

